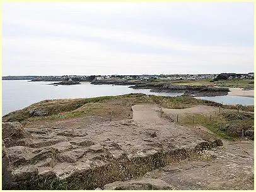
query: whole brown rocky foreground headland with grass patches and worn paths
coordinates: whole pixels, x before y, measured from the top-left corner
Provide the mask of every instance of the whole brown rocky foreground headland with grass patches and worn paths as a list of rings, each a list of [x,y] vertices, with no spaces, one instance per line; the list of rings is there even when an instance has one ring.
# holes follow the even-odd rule
[[[38,102],[2,118],[3,189],[253,189],[253,106],[237,107],[189,95]]]

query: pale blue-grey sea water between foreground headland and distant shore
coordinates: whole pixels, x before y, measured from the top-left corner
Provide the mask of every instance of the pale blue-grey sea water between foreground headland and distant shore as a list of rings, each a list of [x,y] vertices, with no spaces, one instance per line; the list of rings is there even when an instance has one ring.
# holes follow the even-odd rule
[[[148,95],[177,96],[182,93],[154,93],[149,89],[133,89],[129,85],[48,85],[53,82],[28,82],[28,80],[2,81],[2,116],[14,110],[45,99],[77,99],[107,95],[124,95],[127,93],[144,93]],[[201,99],[223,102],[223,104],[253,105],[253,98],[238,96],[200,97]]]

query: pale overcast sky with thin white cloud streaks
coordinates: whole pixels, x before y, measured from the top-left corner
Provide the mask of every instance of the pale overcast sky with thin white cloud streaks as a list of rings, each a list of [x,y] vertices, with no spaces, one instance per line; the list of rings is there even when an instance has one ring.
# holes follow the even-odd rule
[[[253,72],[253,3],[11,3],[2,75]]]

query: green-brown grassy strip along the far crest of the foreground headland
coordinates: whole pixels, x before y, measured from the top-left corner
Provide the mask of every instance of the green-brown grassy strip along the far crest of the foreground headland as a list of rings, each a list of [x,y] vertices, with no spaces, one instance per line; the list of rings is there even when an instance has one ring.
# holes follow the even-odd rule
[[[111,102],[119,101],[121,105],[111,104]],[[156,95],[145,95],[143,93],[130,93],[119,96],[105,96],[88,99],[56,99],[43,100],[36,104],[30,105],[25,109],[16,110],[4,115],[4,122],[25,122],[26,120],[36,119],[65,119],[72,117],[83,117],[88,115],[109,116],[113,113],[113,117],[122,119],[130,119],[131,106],[135,104],[158,104],[161,107],[170,109],[184,109],[194,105],[221,106],[226,109],[238,109],[245,111],[253,111],[253,106],[238,105],[221,105],[209,100],[195,99],[189,95],[177,97],[165,97]],[[47,112],[44,117],[30,117],[30,110],[43,110]],[[130,114],[130,115],[129,115]]]

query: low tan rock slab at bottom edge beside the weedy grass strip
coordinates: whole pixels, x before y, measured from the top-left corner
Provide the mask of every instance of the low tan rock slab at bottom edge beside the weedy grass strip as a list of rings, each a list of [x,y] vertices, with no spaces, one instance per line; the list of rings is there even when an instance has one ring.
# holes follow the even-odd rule
[[[115,181],[105,184],[104,190],[170,190],[173,186],[161,179],[143,178],[131,181]]]

